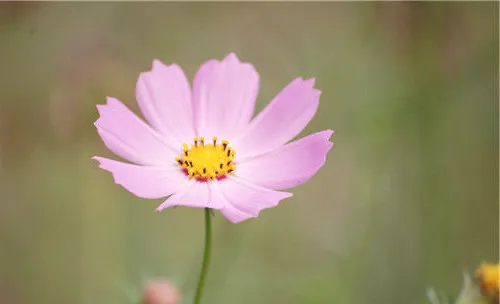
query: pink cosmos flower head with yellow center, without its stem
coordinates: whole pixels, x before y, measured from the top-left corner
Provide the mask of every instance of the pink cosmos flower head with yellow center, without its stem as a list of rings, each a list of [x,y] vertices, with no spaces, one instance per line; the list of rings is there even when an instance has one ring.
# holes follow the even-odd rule
[[[130,163],[94,157],[138,197],[172,206],[212,208],[231,222],[257,217],[291,197],[281,190],[309,180],[333,146],[332,130],[289,142],[318,108],[314,79],[297,78],[252,119],[259,75],[235,54],[204,63],[193,88],[182,69],[153,61],[137,101],[146,121],[119,100],[98,105],[104,144]]]

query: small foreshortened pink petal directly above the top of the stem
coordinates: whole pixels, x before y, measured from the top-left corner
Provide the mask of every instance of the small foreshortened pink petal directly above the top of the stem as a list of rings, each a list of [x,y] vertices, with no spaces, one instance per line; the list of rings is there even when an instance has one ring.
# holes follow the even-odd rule
[[[199,182],[192,179],[183,190],[174,193],[165,202],[158,206],[156,210],[161,211],[172,206],[220,209],[220,205],[210,200],[209,186],[210,182]]]

